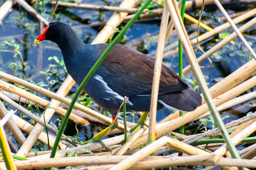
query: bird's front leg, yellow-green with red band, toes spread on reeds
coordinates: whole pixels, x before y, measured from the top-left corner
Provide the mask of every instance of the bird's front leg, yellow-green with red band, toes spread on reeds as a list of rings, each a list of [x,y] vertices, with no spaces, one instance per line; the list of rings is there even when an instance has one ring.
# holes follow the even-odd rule
[[[115,120],[115,117],[116,116],[112,116],[112,123],[110,126],[106,127],[105,129],[94,135],[90,140],[86,142],[81,142],[79,144],[84,145],[92,142],[99,142],[106,150],[111,151],[111,149],[108,146],[106,146],[106,144],[101,140],[101,138],[103,138],[105,135],[108,134],[108,132],[114,130],[118,126],[118,121],[117,119]]]

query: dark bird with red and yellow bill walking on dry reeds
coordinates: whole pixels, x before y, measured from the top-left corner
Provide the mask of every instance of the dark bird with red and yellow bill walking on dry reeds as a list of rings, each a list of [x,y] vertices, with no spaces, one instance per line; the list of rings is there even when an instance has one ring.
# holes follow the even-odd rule
[[[85,44],[69,25],[62,22],[48,23],[34,43],[44,40],[59,46],[67,71],[78,85],[109,46],[107,43]],[[115,117],[125,96],[129,98],[126,101],[126,112],[142,111],[148,114],[154,66],[155,60],[147,55],[125,45],[114,45],[83,88],[93,101],[111,113],[113,126],[94,135],[86,143],[97,141],[109,149],[101,138],[118,126]],[[189,112],[194,111],[201,103],[200,94],[162,64],[157,110],[168,108]],[[120,112],[123,112],[123,108]]]

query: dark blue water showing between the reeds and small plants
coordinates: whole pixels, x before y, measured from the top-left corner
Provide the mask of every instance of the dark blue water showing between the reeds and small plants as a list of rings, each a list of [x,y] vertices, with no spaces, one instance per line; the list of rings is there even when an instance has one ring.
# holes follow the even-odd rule
[[[0,1],[2,3],[3,1]],[[115,1],[108,1],[105,3],[113,4]],[[83,3],[83,2],[81,2]],[[102,1],[86,1],[86,3],[91,4],[102,4]],[[35,8],[40,9],[40,5],[34,5]],[[99,20],[99,12],[98,11],[90,11],[90,10],[76,10],[76,9],[58,9],[56,11],[56,15],[50,19],[50,12],[51,7],[45,6],[44,9],[40,9],[42,11],[43,16],[45,16],[48,21],[61,21],[69,24],[74,28],[74,30],[78,33],[78,35],[81,37],[82,40],[87,42],[88,44],[91,43],[93,38],[98,33],[98,28],[95,29],[92,28],[89,24],[82,24],[82,23],[91,23],[94,25],[94,23],[104,22],[109,19],[109,17],[112,15],[112,12],[104,12],[104,19]],[[212,12],[212,11],[211,11]],[[214,13],[215,11],[213,11]],[[100,17],[102,19],[102,16]],[[120,43],[131,46],[134,49],[140,49],[144,53],[148,55],[153,55],[156,50],[157,46],[157,34],[159,31],[159,19],[154,20],[145,20],[145,22],[136,22],[133,24],[133,26],[129,29],[129,31],[126,32],[124,38]],[[215,27],[216,25],[221,24],[221,22],[213,22],[215,25],[212,25],[212,27]],[[194,32],[195,29],[191,28],[190,25],[187,25],[187,29],[189,32]],[[252,31],[255,28],[252,28]],[[225,31],[227,32],[227,31]],[[228,32],[232,32],[232,30],[228,30]],[[49,69],[49,64],[52,64],[52,60],[48,61],[49,57],[57,56],[59,59],[61,59],[62,54],[59,50],[58,46],[50,41],[44,41],[42,42],[43,45],[43,55],[42,58],[38,58],[38,44],[33,44],[34,39],[39,35],[38,33],[38,23],[31,18],[23,9],[15,7],[15,9],[12,9],[11,12],[8,13],[8,15],[2,20],[2,23],[0,25],[0,70],[8,73],[13,74],[13,63],[15,62],[13,48],[7,44],[4,43],[4,41],[10,42],[14,40],[15,44],[18,44],[20,46],[19,50],[23,56],[23,60],[25,62],[25,74],[24,70],[21,67],[21,62],[19,56],[17,57],[17,68],[15,72],[15,76],[23,78],[25,80],[32,80],[35,83],[44,82],[46,84],[45,88],[49,88],[49,85],[47,86],[47,80],[44,74],[39,73],[39,71],[46,71]],[[247,37],[247,41],[250,41],[252,43],[252,47],[255,49],[255,38],[253,38],[254,35],[251,35],[250,37]],[[143,41],[143,38],[147,38],[146,41]],[[177,41],[177,36],[172,35],[169,38],[168,45],[170,45],[173,42]],[[210,42],[207,42],[202,47],[207,50],[211,48],[214,45],[214,42],[219,41],[219,38],[213,37]],[[213,61],[212,70],[210,72],[210,63],[208,60],[205,60],[200,64],[202,72],[205,76],[205,79],[208,83],[208,86],[211,87],[216,82],[215,80],[222,79],[223,77],[229,75],[233,71],[235,71],[237,68],[242,66],[244,63],[249,61],[248,57],[248,51],[244,48],[243,45],[241,45],[241,42],[239,39],[235,39],[235,45],[227,45],[223,47],[221,50],[219,50],[216,54],[211,56],[211,60]],[[142,42],[136,45],[135,42]],[[133,43],[135,45],[133,45]],[[3,51],[3,50],[10,50],[9,52]],[[196,50],[195,51],[196,56],[199,57],[202,52]],[[173,69],[175,72],[178,72],[178,58],[177,54],[174,54],[172,56],[168,56],[164,58],[164,63],[166,66]],[[54,64],[57,64],[56,62]],[[184,67],[188,64],[186,57],[184,56]],[[54,75],[48,75],[49,80],[60,80],[63,81],[65,79],[65,72],[63,67],[60,67],[60,72],[54,74]],[[195,77],[192,72],[189,72],[185,77],[185,80],[188,79],[194,79]],[[190,84],[192,86],[192,84]],[[55,84],[52,91],[56,91],[60,84]],[[75,85],[77,87],[77,85]],[[72,92],[75,92],[76,87],[72,88]],[[236,109],[237,107],[234,107],[233,109]],[[232,110],[232,109],[231,109]],[[241,116],[244,116],[248,110],[243,112],[239,112],[236,114],[232,114],[231,111],[223,112],[223,115],[230,115],[230,118],[226,119],[226,122],[230,122],[232,120],[235,120]],[[162,120],[164,117],[172,113],[170,110],[162,110],[159,111],[157,114],[157,121]],[[55,121],[56,117],[59,117],[58,115],[55,115],[51,121]],[[128,116],[128,121],[132,121],[132,117]],[[138,117],[135,116],[135,120],[137,120]],[[73,124],[70,126],[74,127]],[[210,124],[208,125],[210,127]],[[94,126],[91,126],[94,127]],[[91,127],[81,127],[79,137],[81,138],[90,138],[93,132],[90,132]],[[75,132],[74,132],[75,133]]]

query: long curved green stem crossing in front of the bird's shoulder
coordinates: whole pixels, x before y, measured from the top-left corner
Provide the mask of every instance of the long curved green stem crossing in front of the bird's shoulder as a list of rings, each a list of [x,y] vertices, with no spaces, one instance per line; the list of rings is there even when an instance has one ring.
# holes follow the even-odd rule
[[[66,112],[66,115],[63,118],[63,121],[60,125],[60,129],[59,129],[59,133],[56,136],[56,140],[54,142],[54,146],[52,147],[52,151],[51,151],[51,155],[50,158],[54,158],[58,149],[58,145],[59,142],[61,140],[61,135],[64,132],[65,126],[68,122],[68,118],[69,115],[74,107],[74,104],[76,103],[76,100],[79,96],[79,94],[81,93],[81,91],[83,90],[83,87],[86,85],[86,83],[89,81],[90,77],[92,76],[92,74],[95,72],[95,70],[99,67],[99,65],[101,64],[101,62],[103,61],[103,59],[106,57],[106,55],[109,53],[109,51],[114,47],[114,45],[116,43],[118,43],[118,41],[120,40],[120,38],[124,35],[124,33],[128,30],[128,28],[130,28],[130,26],[133,24],[133,22],[140,16],[140,14],[142,13],[142,11],[150,4],[152,0],[148,0],[139,10],[138,12],[134,15],[134,17],[124,26],[124,28],[120,31],[120,33],[115,37],[115,39],[113,40],[113,42],[108,46],[108,48],[102,53],[102,55],[100,56],[100,58],[96,61],[96,63],[93,65],[93,67],[91,68],[91,70],[89,71],[89,73],[86,75],[86,77],[84,78],[83,82],[81,83],[81,85],[78,87],[69,107],[68,110]],[[47,170],[51,170],[51,167],[48,167]]]

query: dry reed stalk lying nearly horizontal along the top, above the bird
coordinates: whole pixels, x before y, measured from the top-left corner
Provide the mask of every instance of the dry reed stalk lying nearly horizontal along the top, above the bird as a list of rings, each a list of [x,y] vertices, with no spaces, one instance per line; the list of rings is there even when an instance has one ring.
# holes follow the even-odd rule
[[[48,2],[49,4],[56,4],[55,1]],[[84,10],[96,10],[96,11],[109,11],[109,12],[127,12],[129,14],[135,14],[138,11],[138,8],[125,8],[125,7],[115,7],[115,6],[106,6],[106,5],[93,5],[93,4],[78,4],[70,2],[58,2],[58,6],[74,9],[84,9]],[[142,14],[148,12],[148,9],[145,9]]]

